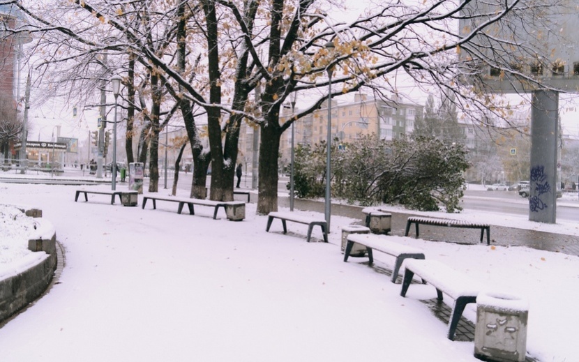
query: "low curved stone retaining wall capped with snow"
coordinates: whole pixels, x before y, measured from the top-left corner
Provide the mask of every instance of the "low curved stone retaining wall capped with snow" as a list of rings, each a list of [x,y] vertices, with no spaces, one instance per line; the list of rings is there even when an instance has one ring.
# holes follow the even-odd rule
[[[42,216],[38,209],[21,209],[27,216]],[[57,269],[57,233],[52,223],[37,220],[36,235],[29,240],[33,253],[0,273],[0,323],[38,299]]]

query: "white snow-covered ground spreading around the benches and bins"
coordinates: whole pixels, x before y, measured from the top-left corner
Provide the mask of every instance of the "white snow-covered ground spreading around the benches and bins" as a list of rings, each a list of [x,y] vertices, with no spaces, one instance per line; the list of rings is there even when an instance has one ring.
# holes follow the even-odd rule
[[[0,361],[478,361],[474,342],[446,339],[446,325],[419,301],[435,298],[433,287],[412,285],[402,298],[400,285],[366,258],[343,262],[340,229],[360,220],[333,216],[330,243],[306,243],[305,225],[289,223],[283,235],[276,220],[266,233],[255,204],[236,223],[223,211],[213,220],[201,206],[189,216],[174,203],[142,210],[112,206],[104,195],[75,203],[76,188],[0,183],[0,204],[42,209],[66,249],[59,284],[0,329]],[[12,212],[0,208],[0,215]],[[573,223],[476,215],[577,232]],[[8,250],[19,249],[6,240],[21,242],[11,219],[0,221],[0,269],[10,267]],[[320,239],[319,230],[313,236]],[[17,253],[27,252],[24,239]],[[492,291],[526,299],[531,356],[579,361],[579,257],[406,241]],[[393,258],[376,254],[377,265],[390,269]],[[474,320],[474,310],[465,315]]]

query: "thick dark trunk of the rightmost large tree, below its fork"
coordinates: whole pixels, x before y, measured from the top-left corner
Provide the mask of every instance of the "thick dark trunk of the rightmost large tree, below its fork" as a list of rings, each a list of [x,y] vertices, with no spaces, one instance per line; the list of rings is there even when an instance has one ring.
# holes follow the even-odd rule
[[[260,182],[257,213],[278,211],[278,153],[281,133],[273,126],[262,127],[260,144]]]

